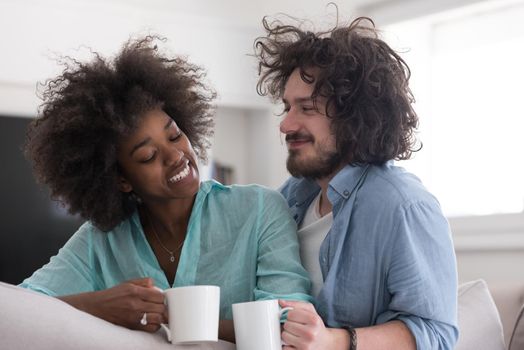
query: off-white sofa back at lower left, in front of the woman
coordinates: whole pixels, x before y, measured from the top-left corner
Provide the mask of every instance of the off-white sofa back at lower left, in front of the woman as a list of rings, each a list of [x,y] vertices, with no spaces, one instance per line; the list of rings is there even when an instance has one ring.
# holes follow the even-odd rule
[[[163,332],[150,334],[119,327],[59,299],[1,282],[0,310],[2,349],[235,349],[224,341],[173,346]]]

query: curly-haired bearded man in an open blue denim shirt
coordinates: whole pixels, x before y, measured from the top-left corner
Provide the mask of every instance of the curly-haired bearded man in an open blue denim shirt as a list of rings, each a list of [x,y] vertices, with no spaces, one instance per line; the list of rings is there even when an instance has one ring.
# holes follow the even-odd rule
[[[312,33],[263,21],[257,91],[284,104],[299,227],[315,308],[291,306],[284,349],[452,349],[457,274],[437,200],[393,165],[417,151],[403,59],[373,22]]]

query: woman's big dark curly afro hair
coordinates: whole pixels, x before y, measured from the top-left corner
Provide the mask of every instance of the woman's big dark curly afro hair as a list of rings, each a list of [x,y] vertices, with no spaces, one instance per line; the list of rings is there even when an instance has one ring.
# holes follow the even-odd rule
[[[39,115],[27,131],[24,151],[37,181],[71,214],[104,231],[136,208],[137,198],[117,186],[117,145],[144,113],[161,108],[206,159],[215,93],[203,84],[200,67],[163,56],[159,41],[129,40],[113,59],[66,58],[62,74],[43,84]]]

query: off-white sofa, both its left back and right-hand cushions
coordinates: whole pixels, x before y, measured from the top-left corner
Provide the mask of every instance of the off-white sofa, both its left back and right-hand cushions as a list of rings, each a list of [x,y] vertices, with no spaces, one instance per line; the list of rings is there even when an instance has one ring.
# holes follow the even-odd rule
[[[456,350],[524,349],[523,298],[524,286],[493,288],[491,293],[482,280],[461,284],[461,335]],[[0,348],[6,350],[235,349],[225,341],[173,346],[162,332],[150,334],[119,327],[56,298],[1,282],[0,312]]]

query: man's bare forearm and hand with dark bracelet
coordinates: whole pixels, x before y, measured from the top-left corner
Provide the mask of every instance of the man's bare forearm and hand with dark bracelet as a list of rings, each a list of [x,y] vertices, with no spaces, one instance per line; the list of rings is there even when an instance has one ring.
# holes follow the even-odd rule
[[[293,307],[284,324],[282,340],[284,350],[350,348],[349,333],[341,328],[327,328],[313,305],[281,300],[282,307]],[[416,350],[415,339],[402,321],[390,321],[381,325],[357,328],[358,350]]]

